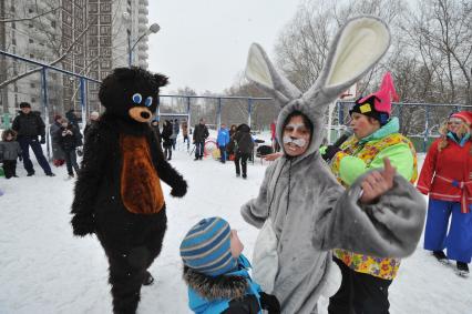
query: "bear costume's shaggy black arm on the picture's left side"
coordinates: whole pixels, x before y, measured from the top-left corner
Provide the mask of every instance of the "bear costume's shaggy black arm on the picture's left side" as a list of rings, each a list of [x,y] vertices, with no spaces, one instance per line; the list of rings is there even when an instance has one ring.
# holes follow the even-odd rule
[[[107,141],[111,141],[103,130],[92,129],[84,144],[81,170],[74,188],[72,202],[72,229],[75,235],[84,236],[95,232],[95,197],[99,184],[104,175],[104,164],[107,158]]]

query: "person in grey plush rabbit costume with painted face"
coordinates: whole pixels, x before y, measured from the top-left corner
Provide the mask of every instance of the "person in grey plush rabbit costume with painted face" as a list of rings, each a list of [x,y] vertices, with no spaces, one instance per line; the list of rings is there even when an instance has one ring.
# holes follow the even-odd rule
[[[330,250],[404,257],[420,240],[424,199],[388,160],[384,170],[361,175],[346,190],[318,151],[326,109],[380,60],[389,44],[381,20],[348,21],[305,93],[277,72],[258,44],[249,50],[247,78],[281,107],[276,129],[284,155],[267,168],[258,196],[242,206],[242,215],[256,227],[268,221],[274,230],[277,271],[273,291],[263,288],[277,296],[281,313],[317,313],[319,296],[336,292],[326,291],[337,270]],[[264,267],[256,260],[255,278],[257,269]]]

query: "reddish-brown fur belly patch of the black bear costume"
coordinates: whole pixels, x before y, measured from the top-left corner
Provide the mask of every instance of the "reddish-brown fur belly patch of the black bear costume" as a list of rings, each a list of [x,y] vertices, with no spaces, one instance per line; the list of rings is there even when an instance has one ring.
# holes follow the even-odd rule
[[[120,146],[123,155],[121,171],[123,204],[135,214],[158,213],[164,205],[164,194],[146,138],[121,135]]]

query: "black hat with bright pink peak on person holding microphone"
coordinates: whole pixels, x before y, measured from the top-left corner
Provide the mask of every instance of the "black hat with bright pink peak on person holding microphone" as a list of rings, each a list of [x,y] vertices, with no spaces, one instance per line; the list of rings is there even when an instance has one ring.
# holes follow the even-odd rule
[[[391,100],[398,101],[398,94],[394,89],[391,74],[387,72],[383,75],[380,90],[356,101],[356,104],[349,110],[349,114],[353,112],[361,113],[367,117],[377,119],[380,125],[387,124],[392,111]]]

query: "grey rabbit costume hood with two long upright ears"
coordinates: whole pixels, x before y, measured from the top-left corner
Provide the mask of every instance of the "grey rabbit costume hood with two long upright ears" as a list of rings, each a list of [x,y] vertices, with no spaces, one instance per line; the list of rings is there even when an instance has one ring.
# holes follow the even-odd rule
[[[308,117],[314,124],[311,143],[305,152],[308,155],[318,151],[321,144],[324,115],[328,105],[371,70],[389,45],[390,32],[383,21],[374,17],[355,18],[338,31],[320,75],[307,92],[300,92],[279,74],[257,43],[250,47],[246,77],[270,93],[280,105],[276,130],[280,143],[284,122],[291,112],[300,111]]]

